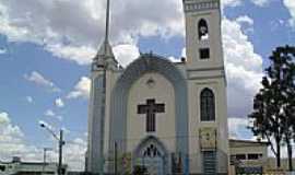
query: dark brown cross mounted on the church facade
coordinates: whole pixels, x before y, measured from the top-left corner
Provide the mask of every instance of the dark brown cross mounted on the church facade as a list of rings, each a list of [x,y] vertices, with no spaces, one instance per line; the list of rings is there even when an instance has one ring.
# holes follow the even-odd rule
[[[155,100],[146,100],[146,105],[138,105],[138,114],[146,114],[146,132],[155,131],[156,113],[165,113],[165,104],[156,104]]]

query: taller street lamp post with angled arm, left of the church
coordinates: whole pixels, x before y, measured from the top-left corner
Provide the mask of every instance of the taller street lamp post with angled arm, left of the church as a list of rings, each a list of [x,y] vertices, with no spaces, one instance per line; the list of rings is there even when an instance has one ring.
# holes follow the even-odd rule
[[[63,141],[63,130],[60,129],[59,131],[59,137],[49,128],[47,127],[45,124],[40,124],[40,127],[45,128],[47,131],[49,131],[54,138],[56,138],[58,140],[58,175],[62,175],[62,145],[66,144],[66,142]]]

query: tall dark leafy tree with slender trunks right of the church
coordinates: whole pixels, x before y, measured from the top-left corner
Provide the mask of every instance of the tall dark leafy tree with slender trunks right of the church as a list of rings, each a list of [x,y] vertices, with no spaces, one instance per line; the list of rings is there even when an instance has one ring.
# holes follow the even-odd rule
[[[262,89],[253,101],[248,116],[255,136],[267,139],[281,167],[281,144],[286,143],[290,170],[292,166],[292,138],[294,138],[294,47],[278,47],[270,57],[270,66],[262,79]]]

